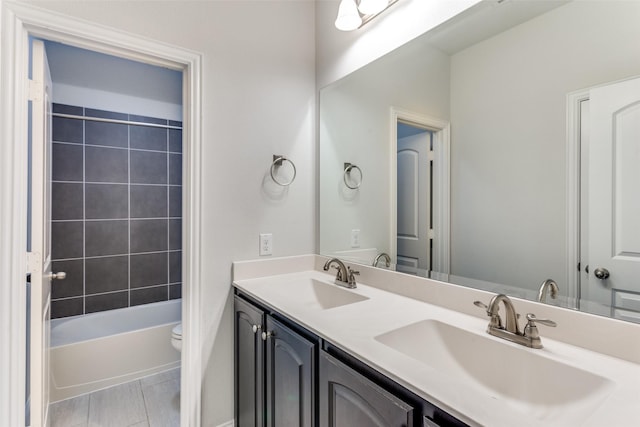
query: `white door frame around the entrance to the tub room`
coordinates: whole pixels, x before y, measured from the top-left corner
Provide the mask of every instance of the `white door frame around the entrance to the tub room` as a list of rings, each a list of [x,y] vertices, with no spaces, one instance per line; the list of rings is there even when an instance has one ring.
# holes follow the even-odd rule
[[[28,4],[0,2],[0,414],[25,425],[28,37],[183,73],[181,425],[201,424],[202,54]],[[10,284],[10,285],[9,285]],[[168,339],[168,338],[167,338]],[[8,379],[5,380],[5,379]]]

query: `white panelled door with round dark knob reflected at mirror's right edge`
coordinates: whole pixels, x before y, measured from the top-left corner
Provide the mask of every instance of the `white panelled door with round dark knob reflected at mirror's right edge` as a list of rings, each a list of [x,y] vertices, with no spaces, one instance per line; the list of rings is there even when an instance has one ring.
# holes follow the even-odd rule
[[[640,292],[640,79],[593,89],[589,98],[589,285],[582,297],[611,314],[613,289]]]

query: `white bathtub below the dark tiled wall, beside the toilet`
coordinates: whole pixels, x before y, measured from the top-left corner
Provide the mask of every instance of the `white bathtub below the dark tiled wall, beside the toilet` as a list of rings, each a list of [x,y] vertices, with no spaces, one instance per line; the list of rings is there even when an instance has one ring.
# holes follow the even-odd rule
[[[180,366],[172,300],[51,321],[51,402]]]

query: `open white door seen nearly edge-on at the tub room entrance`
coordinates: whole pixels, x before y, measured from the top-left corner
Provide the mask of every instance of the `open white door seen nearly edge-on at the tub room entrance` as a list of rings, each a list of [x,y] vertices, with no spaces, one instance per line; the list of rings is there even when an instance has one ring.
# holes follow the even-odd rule
[[[31,273],[29,362],[31,426],[46,426],[49,406],[49,319],[51,305],[51,76],[44,43],[33,41],[31,123]],[[64,274],[59,274],[64,278]],[[60,277],[62,276],[62,277]]]

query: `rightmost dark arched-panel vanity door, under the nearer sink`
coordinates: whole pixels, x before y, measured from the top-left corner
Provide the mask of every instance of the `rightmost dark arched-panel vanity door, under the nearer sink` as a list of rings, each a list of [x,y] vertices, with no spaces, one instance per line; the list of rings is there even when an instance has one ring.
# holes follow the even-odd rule
[[[320,427],[409,427],[413,407],[320,352]]]

